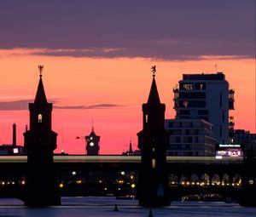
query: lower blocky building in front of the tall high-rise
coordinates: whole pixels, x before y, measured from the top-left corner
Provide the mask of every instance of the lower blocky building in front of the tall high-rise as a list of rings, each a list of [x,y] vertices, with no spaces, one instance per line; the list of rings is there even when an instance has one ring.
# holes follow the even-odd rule
[[[214,156],[216,140],[212,123],[203,119],[167,119],[169,156]]]

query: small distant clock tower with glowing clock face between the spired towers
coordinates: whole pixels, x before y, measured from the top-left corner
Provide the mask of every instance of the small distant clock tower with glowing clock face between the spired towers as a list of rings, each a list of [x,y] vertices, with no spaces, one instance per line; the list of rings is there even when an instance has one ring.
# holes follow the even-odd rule
[[[91,155],[91,156],[99,155],[100,138],[101,136],[98,136],[95,134],[94,128],[92,126],[90,135],[85,136],[87,155]]]

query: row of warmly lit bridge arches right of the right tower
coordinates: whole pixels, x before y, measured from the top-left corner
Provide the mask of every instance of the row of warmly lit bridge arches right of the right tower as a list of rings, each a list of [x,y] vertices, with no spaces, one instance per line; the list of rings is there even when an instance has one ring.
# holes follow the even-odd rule
[[[170,201],[234,201],[241,197],[241,174],[169,174]]]

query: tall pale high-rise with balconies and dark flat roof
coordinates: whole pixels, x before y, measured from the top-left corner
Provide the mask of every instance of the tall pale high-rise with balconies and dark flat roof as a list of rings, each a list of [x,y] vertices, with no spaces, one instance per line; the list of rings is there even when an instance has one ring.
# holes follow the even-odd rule
[[[229,141],[229,111],[234,109],[235,91],[229,89],[224,73],[183,74],[173,93],[176,118],[203,119],[212,123],[218,143]]]

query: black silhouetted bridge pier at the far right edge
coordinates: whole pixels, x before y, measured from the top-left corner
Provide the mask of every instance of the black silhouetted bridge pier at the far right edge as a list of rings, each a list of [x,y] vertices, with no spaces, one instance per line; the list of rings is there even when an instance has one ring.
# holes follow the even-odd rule
[[[256,150],[244,152],[241,197],[239,203],[245,207],[256,207]]]

